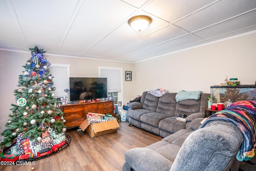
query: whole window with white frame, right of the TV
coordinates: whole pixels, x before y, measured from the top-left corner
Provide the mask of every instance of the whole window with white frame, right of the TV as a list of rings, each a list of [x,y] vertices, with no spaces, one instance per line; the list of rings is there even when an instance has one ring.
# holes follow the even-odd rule
[[[123,101],[122,92],[122,68],[98,67],[99,77],[105,77],[108,81],[108,96],[113,96],[114,105]]]

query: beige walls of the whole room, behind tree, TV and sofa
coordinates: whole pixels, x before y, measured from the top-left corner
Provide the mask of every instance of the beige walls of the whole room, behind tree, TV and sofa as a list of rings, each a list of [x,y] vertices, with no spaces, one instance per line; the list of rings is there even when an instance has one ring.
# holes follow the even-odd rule
[[[132,71],[132,81],[123,80],[124,103],[143,91],[165,88],[170,92],[202,90],[238,78],[242,85],[256,81],[256,33],[158,57],[140,63],[119,63],[80,58],[48,56],[51,63],[69,64],[70,77],[98,77],[98,67],[118,67]],[[30,53],[0,50],[0,132],[16,103],[13,90]],[[81,69],[83,68],[83,69]],[[123,104],[124,104],[123,103]]]

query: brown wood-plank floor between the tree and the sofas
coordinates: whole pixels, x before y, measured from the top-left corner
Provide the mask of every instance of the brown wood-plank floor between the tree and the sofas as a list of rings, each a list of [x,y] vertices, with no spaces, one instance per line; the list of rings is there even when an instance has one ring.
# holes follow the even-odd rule
[[[162,140],[159,136],[119,122],[118,132],[91,138],[86,132],[68,130],[71,143],[64,150],[31,165],[2,166],[1,171],[121,171],[124,153]]]

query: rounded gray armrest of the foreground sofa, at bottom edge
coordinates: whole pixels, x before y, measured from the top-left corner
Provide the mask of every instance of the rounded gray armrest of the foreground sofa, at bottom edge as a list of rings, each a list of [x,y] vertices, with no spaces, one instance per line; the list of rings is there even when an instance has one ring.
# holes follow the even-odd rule
[[[136,171],[169,171],[172,162],[156,151],[147,148],[133,148],[124,153],[127,163]]]

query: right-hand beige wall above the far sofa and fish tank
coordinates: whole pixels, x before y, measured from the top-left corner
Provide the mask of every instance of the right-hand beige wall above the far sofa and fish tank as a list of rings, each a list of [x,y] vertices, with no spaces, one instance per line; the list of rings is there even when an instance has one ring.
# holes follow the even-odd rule
[[[226,76],[254,85],[256,33],[135,63],[133,75],[134,95],[154,88],[210,93],[210,86],[224,83]]]

